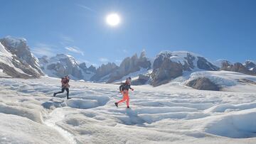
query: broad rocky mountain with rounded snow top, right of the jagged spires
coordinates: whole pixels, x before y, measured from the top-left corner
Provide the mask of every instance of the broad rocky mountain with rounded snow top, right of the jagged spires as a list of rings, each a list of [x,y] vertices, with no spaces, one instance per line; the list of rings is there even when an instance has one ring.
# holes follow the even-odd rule
[[[218,70],[218,67],[210,63],[206,58],[193,52],[163,51],[156,56],[151,73],[151,84],[158,86],[180,77],[183,71]]]

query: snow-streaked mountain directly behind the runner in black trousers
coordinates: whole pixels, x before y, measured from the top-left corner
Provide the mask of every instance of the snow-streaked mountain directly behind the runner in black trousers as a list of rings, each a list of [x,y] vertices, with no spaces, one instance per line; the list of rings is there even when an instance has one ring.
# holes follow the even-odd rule
[[[95,74],[95,67],[87,68],[85,63],[79,64],[71,55],[43,56],[39,58],[39,63],[43,72],[48,74],[49,77],[70,75],[72,79],[89,80]]]

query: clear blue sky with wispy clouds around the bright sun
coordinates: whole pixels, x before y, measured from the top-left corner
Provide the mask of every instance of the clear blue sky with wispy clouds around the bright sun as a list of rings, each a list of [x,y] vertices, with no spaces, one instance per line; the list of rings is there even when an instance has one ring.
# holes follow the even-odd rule
[[[209,60],[256,60],[255,0],[1,0],[0,37],[28,40],[36,56],[119,63],[146,50],[187,50]],[[122,23],[110,27],[108,13]]]

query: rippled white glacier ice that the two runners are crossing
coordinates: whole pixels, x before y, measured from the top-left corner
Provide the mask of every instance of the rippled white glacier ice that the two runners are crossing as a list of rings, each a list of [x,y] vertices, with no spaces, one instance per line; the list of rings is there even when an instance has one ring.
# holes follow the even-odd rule
[[[252,86],[247,92],[178,82],[133,86],[126,109],[114,106],[122,99],[115,84],[71,81],[68,100],[65,93],[53,97],[60,79],[2,78],[0,84],[0,143],[256,143]]]

